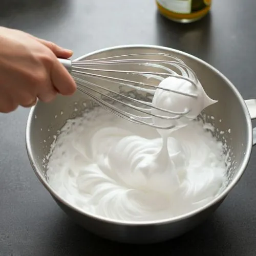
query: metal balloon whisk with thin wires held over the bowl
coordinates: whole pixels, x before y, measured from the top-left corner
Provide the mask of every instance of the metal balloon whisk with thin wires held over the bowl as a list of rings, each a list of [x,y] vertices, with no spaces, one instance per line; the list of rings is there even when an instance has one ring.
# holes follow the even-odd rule
[[[157,125],[153,118],[174,120],[190,112],[190,109],[177,112],[154,106],[152,99],[156,90],[193,98],[198,96],[199,81],[196,74],[182,60],[166,53],[138,53],[81,61],[59,61],[71,73],[77,89],[94,102],[119,117],[156,129],[172,129],[174,125]],[[189,81],[191,86],[195,87],[196,93],[158,86],[159,81],[170,76]],[[149,82],[152,80],[150,78],[153,78],[154,84]],[[144,96],[141,98],[142,94]],[[161,114],[152,113],[152,109],[160,111]]]

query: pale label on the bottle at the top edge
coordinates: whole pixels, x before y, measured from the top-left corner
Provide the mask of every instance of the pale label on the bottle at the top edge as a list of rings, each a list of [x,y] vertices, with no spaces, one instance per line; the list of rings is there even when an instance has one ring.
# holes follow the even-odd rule
[[[191,2],[192,0],[157,0],[157,2],[165,9],[188,14],[191,13]]]

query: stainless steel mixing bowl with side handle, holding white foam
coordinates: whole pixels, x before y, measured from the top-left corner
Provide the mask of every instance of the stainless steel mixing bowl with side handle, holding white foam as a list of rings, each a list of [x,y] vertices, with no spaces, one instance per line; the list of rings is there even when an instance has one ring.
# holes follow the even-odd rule
[[[217,198],[205,206],[176,218],[139,223],[112,220],[84,212],[63,200],[51,188],[46,175],[46,156],[50,151],[51,143],[67,119],[80,116],[84,111],[90,111],[95,107],[95,104],[86,95],[76,92],[72,97],[58,96],[55,101],[48,104],[38,102],[31,109],[28,117],[27,151],[38,179],[60,208],[75,222],[110,240],[126,243],[155,243],[175,238],[192,229],[215,211],[229,191],[238,183],[251,154],[253,145],[251,119],[256,118],[256,100],[244,101],[233,84],[206,62],[174,49],[145,45],[103,49],[84,55],[77,60],[154,52],[172,54],[185,61],[198,75],[206,93],[211,98],[218,100],[218,103],[208,107],[205,113],[219,131],[224,132],[223,135],[219,136],[219,139],[226,140],[230,151],[231,166],[227,170],[228,182],[226,187]],[[164,56],[161,58],[165,59]],[[150,69],[150,67],[146,67],[146,69]],[[99,83],[101,82],[99,80]],[[214,118],[210,118],[212,116]]]

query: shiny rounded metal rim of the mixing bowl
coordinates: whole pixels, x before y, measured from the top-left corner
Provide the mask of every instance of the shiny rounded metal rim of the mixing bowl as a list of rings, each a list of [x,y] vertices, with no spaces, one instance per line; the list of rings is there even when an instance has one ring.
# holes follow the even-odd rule
[[[111,219],[111,218],[106,218],[106,217],[102,217],[102,216],[99,216],[99,215],[91,214],[90,212],[84,211],[84,210],[80,209],[79,207],[70,204],[67,200],[61,198],[55,192],[55,190],[49,185],[49,183],[46,181],[44,175],[42,175],[40,173],[39,168],[36,166],[36,162],[35,162],[34,157],[33,157],[31,141],[30,141],[31,121],[32,121],[32,118],[34,116],[34,112],[35,112],[35,109],[36,109],[36,106],[37,106],[37,104],[36,104],[31,108],[31,110],[29,112],[28,119],[27,119],[27,124],[26,124],[26,149],[27,149],[27,154],[28,154],[29,161],[31,163],[31,166],[32,166],[32,168],[34,170],[34,173],[36,174],[37,178],[42,183],[42,185],[45,186],[45,188],[49,191],[49,193],[51,194],[51,196],[53,198],[55,198],[58,201],[60,201],[61,203],[65,204],[67,207],[79,212],[81,215],[84,215],[86,217],[90,217],[90,218],[93,218],[93,219],[98,220],[98,221],[103,221],[103,222],[108,222],[108,223],[111,223],[111,224],[118,224],[118,225],[126,225],[126,226],[164,225],[164,224],[179,222],[179,221],[182,221],[184,219],[188,219],[190,217],[193,217],[193,216],[199,214],[200,212],[210,208],[211,206],[213,206],[215,204],[221,203],[225,199],[225,197],[228,195],[230,190],[241,179],[241,177],[242,177],[242,175],[243,175],[243,173],[244,173],[244,171],[245,171],[245,169],[248,165],[250,155],[251,155],[251,151],[252,151],[252,138],[253,138],[253,136],[252,136],[251,118],[250,118],[250,114],[249,114],[249,111],[247,109],[247,106],[246,106],[246,103],[245,103],[243,97],[239,93],[238,89],[231,83],[231,81],[226,76],[224,76],[219,70],[212,67],[207,62],[205,62],[204,60],[202,60],[198,57],[195,57],[191,54],[188,54],[186,52],[176,50],[176,49],[173,49],[173,48],[156,46],[156,45],[120,45],[120,46],[108,47],[108,48],[103,48],[103,49],[100,49],[100,50],[97,50],[97,51],[93,51],[93,52],[84,54],[84,55],[76,58],[75,60],[81,60],[83,58],[90,57],[94,54],[98,54],[98,53],[105,52],[105,51],[125,49],[125,48],[148,48],[148,49],[156,49],[156,50],[160,50],[160,51],[163,50],[163,51],[169,51],[170,53],[175,52],[175,53],[181,54],[183,56],[186,56],[190,59],[194,59],[195,61],[202,63],[203,65],[205,65],[206,67],[208,67],[209,69],[211,69],[212,71],[217,73],[217,75],[219,75],[228,84],[228,86],[232,89],[233,93],[236,94],[237,98],[240,101],[240,104],[242,106],[242,109],[244,111],[244,115],[245,115],[245,118],[246,118],[246,124],[245,125],[246,125],[246,129],[247,129],[247,133],[248,133],[248,144],[247,144],[246,152],[244,154],[244,158],[243,158],[241,167],[238,170],[238,173],[237,173],[236,177],[233,178],[233,180],[229,183],[229,185],[222,191],[222,193],[220,193],[220,195],[218,195],[216,198],[214,198],[214,200],[212,200],[209,203],[201,206],[200,208],[197,208],[193,211],[188,212],[187,214],[183,214],[183,215],[180,215],[180,216],[177,216],[177,217],[166,218],[166,219],[161,219],[161,220],[154,220],[154,221],[125,221],[125,220]]]

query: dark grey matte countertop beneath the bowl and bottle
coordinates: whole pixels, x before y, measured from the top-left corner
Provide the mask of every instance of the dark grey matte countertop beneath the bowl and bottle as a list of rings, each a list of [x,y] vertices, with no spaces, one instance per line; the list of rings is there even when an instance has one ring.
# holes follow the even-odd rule
[[[125,44],[177,48],[223,72],[245,99],[256,97],[256,2],[213,2],[210,15],[181,25],[160,16],[154,0],[2,0],[0,26],[55,41],[74,57]],[[239,184],[201,226],[162,244],[123,245],[74,224],[39,183],[25,148],[28,112],[0,114],[1,256],[256,255],[255,150]]]

